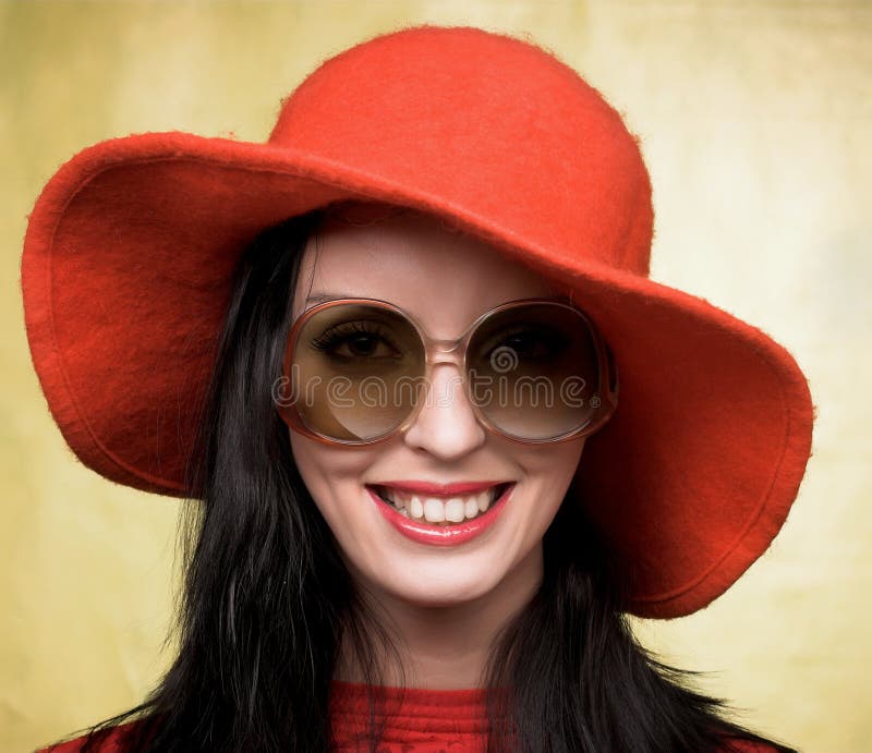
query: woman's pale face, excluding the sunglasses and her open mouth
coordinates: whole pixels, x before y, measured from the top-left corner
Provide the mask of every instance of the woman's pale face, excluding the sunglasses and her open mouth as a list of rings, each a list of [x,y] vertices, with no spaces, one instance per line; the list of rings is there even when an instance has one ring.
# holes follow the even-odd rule
[[[317,252],[310,239],[294,318],[314,305],[306,304],[307,296],[318,295],[388,301],[416,318],[431,337],[456,339],[494,306],[556,292],[486,243],[453,232],[438,219],[405,212],[368,223],[328,221],[317,233]],[[352,576],[377,594],[414,605],[458,605],[500,584],[504,591],[532,593],[541,579],[543,534],[584,446],[584,439],[521,445],[486,430],[456,389],[459,377],[453,364],[437,364],[428,382],[433,393],[415,423],[376,446],[330,447],[290,433],[303,481]],[[513,487],[482,532],[437,546],[401,533],[379,510],[385,502],[367,488],[398,481],[511,482]],[[416,496],[426,506],[434,495]],[[457,494],[437,499],[445,505],[458,496],[464,506],[470,501],[469,495]],[[407,508],[412,503],[407,496]],[[457,510],[458,503],[453,506]]]

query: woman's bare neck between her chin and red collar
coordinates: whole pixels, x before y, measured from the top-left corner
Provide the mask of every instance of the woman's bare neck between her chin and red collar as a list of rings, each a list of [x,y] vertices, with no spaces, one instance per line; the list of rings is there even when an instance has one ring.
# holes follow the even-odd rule
[[[389,632],[402,671],[376,652],[379,682],[409,688],[465,689],[484,682],[483,671],[499,631],[533,598],[542,583],[542,544],[483,596],[446,606],[412,604],[365,591],[374,618]],[[340,647],[336,679],[364,682],[348,640]]]

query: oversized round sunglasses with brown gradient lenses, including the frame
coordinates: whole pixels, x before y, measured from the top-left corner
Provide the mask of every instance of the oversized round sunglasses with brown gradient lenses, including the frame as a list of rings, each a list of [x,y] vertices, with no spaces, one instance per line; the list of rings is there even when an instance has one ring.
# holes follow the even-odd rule
[[[583,437],[617,408],[605,341],[583,312],[550,299],[496,306],[458,340],[429,337],[386,301],[327,301],[291,326],[281,392],[272,397],[288,426],[307,437],[371,445],[414,423],[433,400],[433,367],[441,363],[460,376],[450,399],[460,391],[484,427],[512,441]]]

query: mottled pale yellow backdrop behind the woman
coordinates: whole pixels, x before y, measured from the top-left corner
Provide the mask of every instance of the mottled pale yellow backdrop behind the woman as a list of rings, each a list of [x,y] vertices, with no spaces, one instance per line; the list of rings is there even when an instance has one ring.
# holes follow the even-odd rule
[[[266,138],[322,59],[415,22],[529,33],[642,137],[652,276],[760,326],[818,405],[770,551],[644,641],[806,750],[872,750],[872,10],[865,2],[0,2],[0,750],[140,702],[178,573],[178,503],[82,466],[33,372],[19,289],[39,189],[144,131]]]

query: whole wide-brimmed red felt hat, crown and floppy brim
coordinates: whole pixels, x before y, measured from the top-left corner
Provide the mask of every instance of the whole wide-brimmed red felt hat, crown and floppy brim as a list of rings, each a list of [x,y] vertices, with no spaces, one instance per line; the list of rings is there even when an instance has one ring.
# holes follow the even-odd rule
[[[761,330],[647,278],[647,171],[602,96],[535,45],[471,27],[405,28],[327,60],[265,144],[146,133],[58,170],[27,228],[24,314],[82,462],[189,496],[193,406],[243,248],[355,197],[447,218],[598,326],[620,404],[573,488],[617,547],[629,611],[690,614],[765,551],[810,454],[802,372]]]

